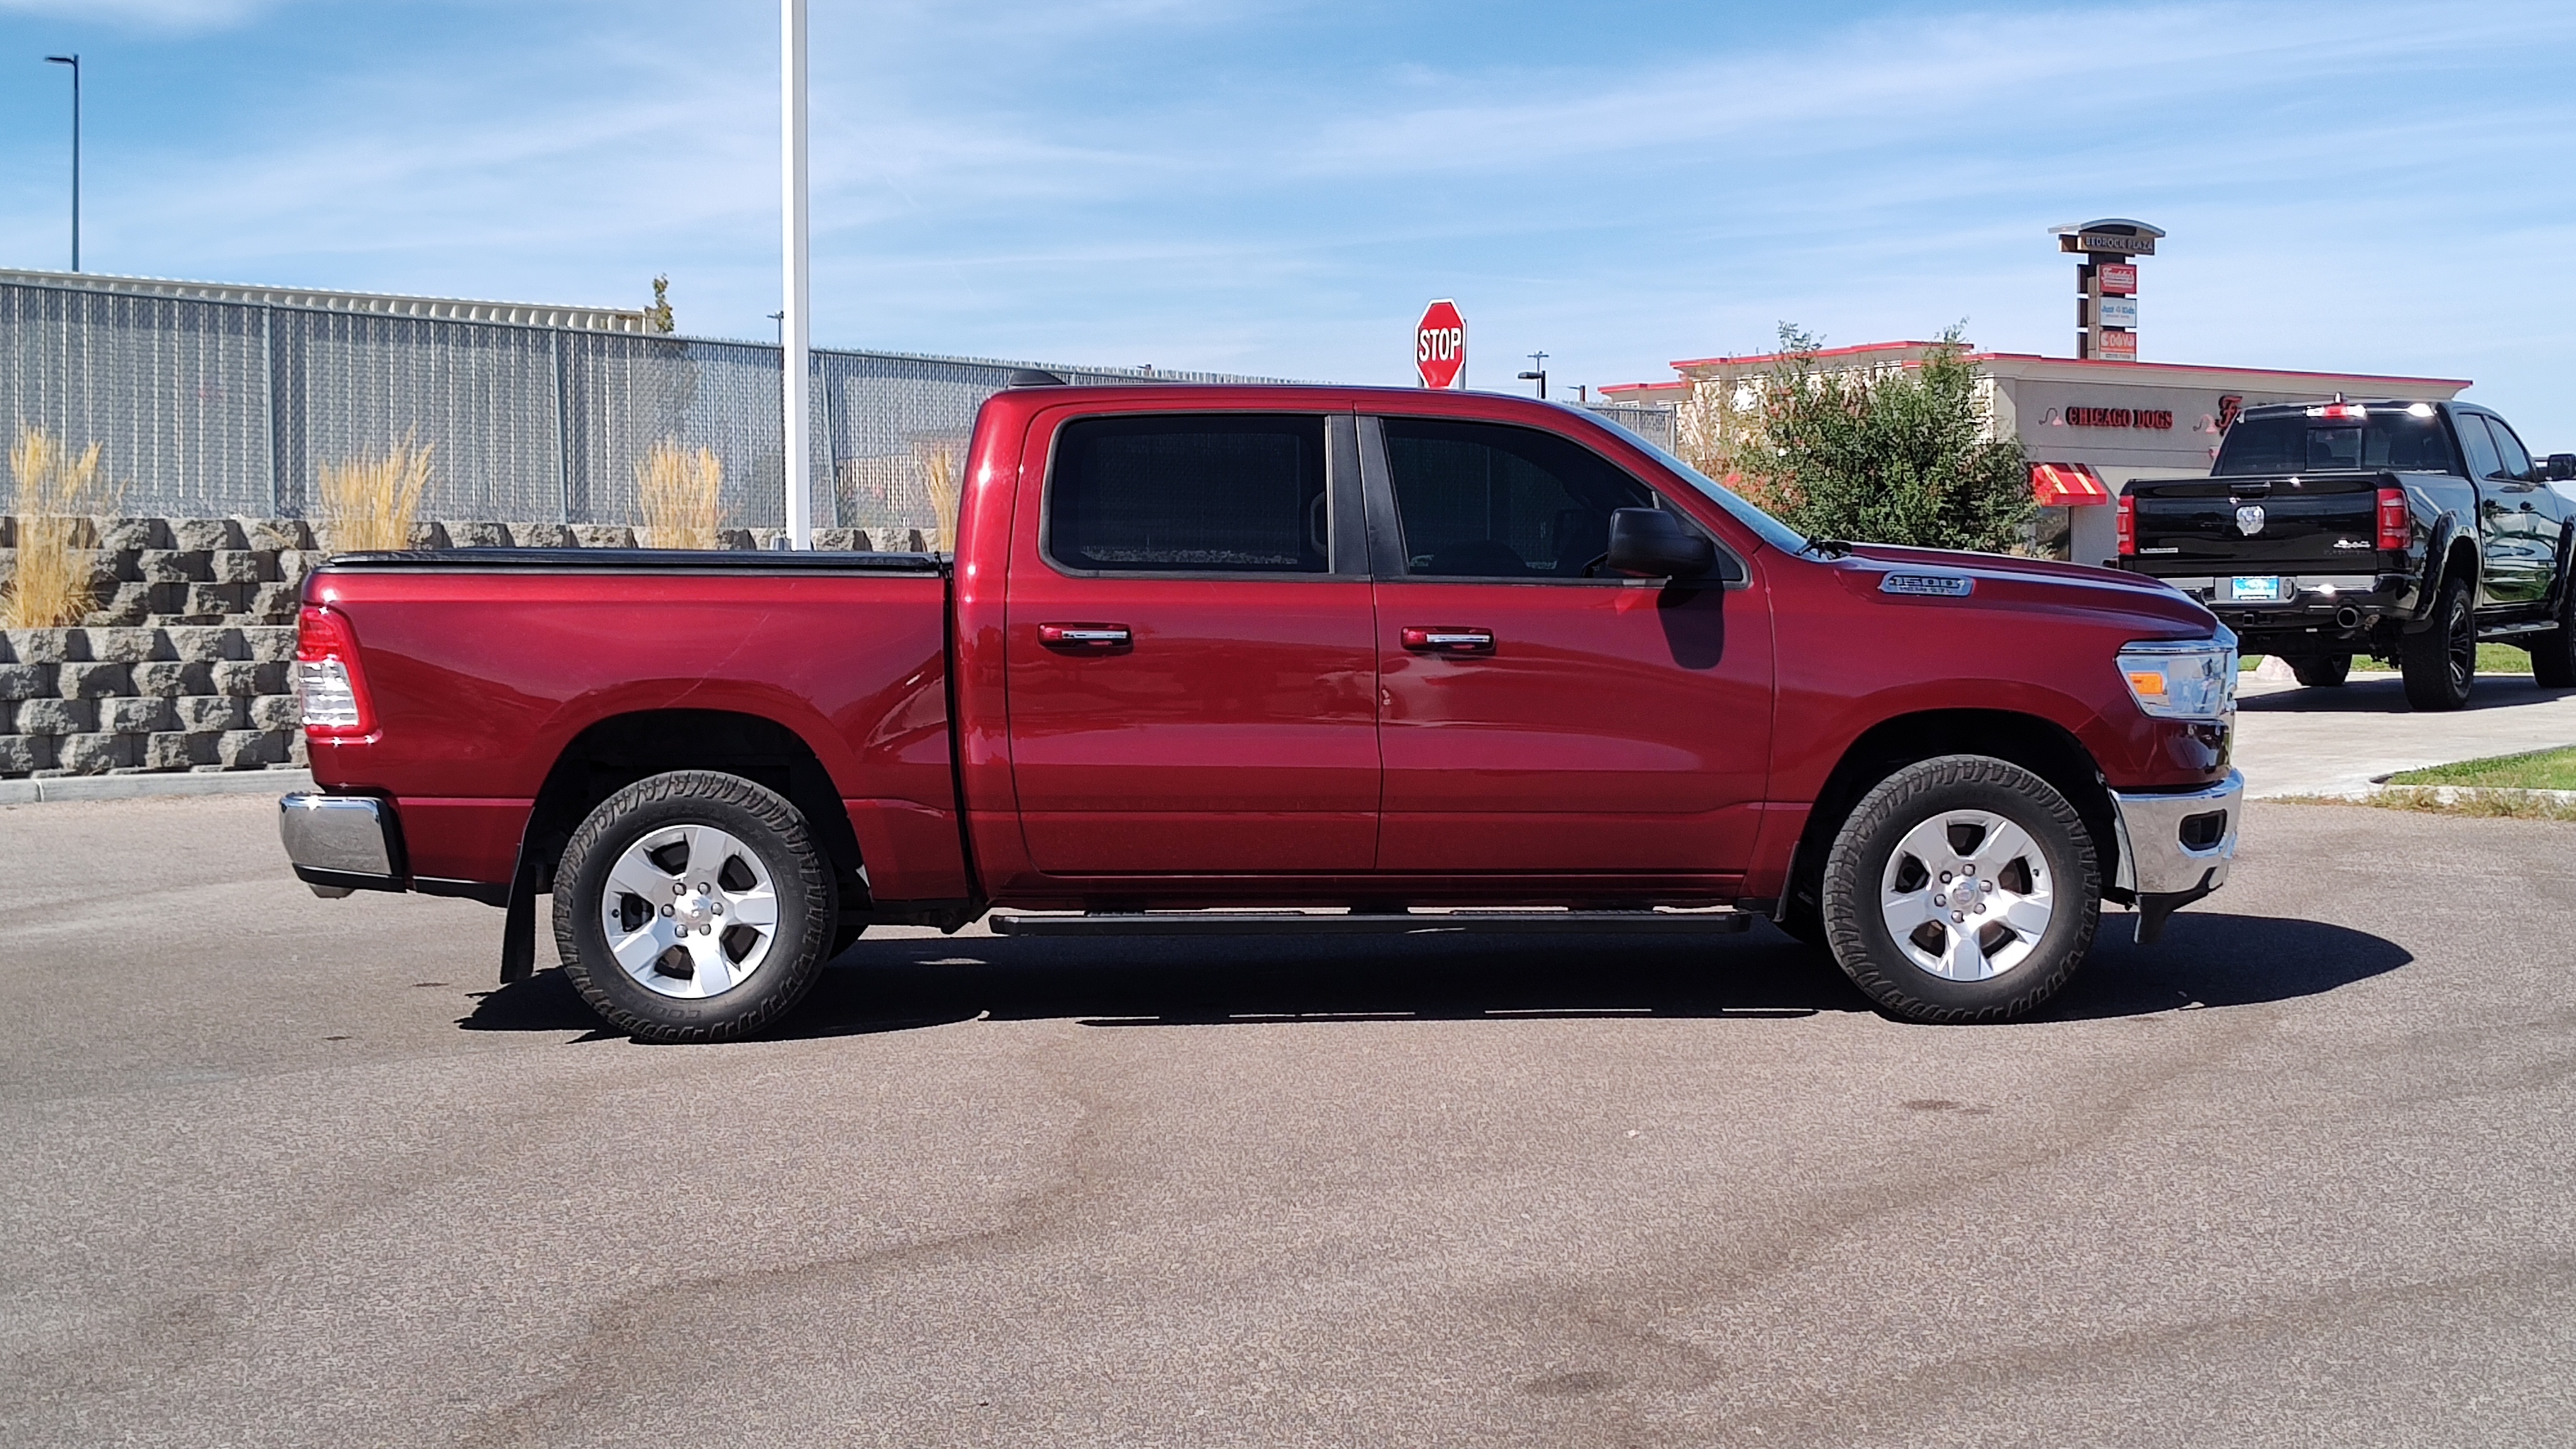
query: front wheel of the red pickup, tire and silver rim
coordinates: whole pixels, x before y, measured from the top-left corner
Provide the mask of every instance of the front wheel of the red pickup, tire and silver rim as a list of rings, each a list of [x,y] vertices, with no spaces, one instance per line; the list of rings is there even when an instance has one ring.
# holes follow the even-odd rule
[[[1891,1016],[2004,1021],[2092,949],[2092,833],[2040,776],[1986,755],[1906,766],[1852,807],[1824,861],[1834,962]]]

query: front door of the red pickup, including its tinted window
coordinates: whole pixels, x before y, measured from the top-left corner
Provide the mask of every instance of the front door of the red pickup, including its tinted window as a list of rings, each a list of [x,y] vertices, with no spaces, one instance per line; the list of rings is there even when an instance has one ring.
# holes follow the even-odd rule
[[[1363,418],[1360,438],[1383,691],[1378,871],[1610,895],[1741,871],[1772,719],[1759,580],[1602,578],[1610,511],[1656,498],[1569,436]]]

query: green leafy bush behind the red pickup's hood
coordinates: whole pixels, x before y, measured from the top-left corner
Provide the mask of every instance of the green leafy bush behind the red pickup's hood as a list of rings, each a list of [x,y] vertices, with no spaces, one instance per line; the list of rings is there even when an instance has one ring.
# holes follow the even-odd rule
[[[1919,366],[1824,371],[1816,338],[1783,322],[1747,492],[1816,539],[2007,552],[2035,500],[2020,438],[1991,441],[1976,369],[1950,327]]]

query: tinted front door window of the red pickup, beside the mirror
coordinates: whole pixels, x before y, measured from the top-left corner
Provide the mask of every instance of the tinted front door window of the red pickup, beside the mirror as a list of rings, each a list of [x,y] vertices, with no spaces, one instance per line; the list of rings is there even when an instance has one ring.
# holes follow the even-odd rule
[[[1654,490],[1556,433],[1386,418],[1406,575],[1579,580],[1610,549],[1613,508]]]

